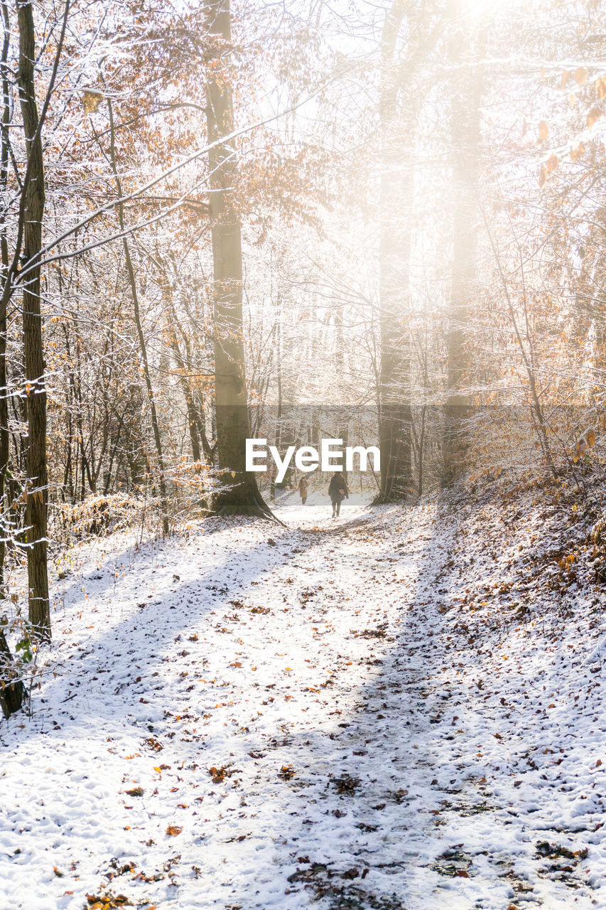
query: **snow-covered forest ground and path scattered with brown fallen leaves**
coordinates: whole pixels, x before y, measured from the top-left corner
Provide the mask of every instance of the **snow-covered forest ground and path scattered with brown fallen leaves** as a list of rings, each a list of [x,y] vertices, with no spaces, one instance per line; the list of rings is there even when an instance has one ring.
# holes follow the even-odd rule
[[[520,496],[74,548],[0,910],[606,906],[604,596]]]

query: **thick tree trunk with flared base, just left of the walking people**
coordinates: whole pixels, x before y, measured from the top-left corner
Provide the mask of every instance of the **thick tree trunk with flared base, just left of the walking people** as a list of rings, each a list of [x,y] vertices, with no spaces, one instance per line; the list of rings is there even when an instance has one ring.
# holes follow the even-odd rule
[[[218,39],[215,66],[207,81],[208,141],[216,142],[234,129],[231,90],[217,65],[231,41],[229,0],[206,0],[207,26]],[[242,243],[233,192],[236,177],[233,145],[219,144],[208,152],[210,218],[214,268],[215,410],[218,467],[229,489],[217,496],[221,514],[270,516],[257,479],[246,470],[250,435],[242,321]]]

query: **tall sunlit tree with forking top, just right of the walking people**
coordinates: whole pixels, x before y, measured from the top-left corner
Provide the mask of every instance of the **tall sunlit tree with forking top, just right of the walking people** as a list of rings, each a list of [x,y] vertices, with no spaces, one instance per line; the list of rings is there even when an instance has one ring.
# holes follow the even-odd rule
[[[439,34],[433,5],[392,0],[381,33],[379,187],[379,448],[377,501],[412,491],[410,253],[414,136],[427,84],[420,78]],[[400,50],[400,46],[403,45]],[[411,91],[411,86],[414,91]]]

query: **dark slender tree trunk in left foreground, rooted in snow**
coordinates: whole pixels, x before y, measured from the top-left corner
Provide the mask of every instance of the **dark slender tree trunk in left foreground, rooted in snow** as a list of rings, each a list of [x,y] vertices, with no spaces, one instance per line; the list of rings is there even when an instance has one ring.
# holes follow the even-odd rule
[[[45,359],[40,309],[40,265],[42,218],[45,210],[45,175],[42,140],[37,132],[38,110],[35,103],[35,31],[32,5],[17,0],[19,27],[19,66],[17,82],[23,116],[29,180],[25,187],[24,246],[28,268],[23,292],[23,336],[25,382],[27,391],[27,580],[29,620],[35,635],[50,638],[48,572],[46,566],[46,386]]]

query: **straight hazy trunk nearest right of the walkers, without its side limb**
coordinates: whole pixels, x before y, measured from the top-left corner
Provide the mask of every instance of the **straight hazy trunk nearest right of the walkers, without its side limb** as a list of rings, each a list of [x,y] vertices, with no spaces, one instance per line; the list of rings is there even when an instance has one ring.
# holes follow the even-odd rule
[[[379,450],[380,490],[376,501],[403,499],[411,486],[410,364],[408,329],[410,233],[402,227],[402,209],[412,193],[411,166],[398,133],[399,79],[395,71],[398,35],[406,12],[404,0],[393,0],[381,36],[381,173],[379,236]]]

